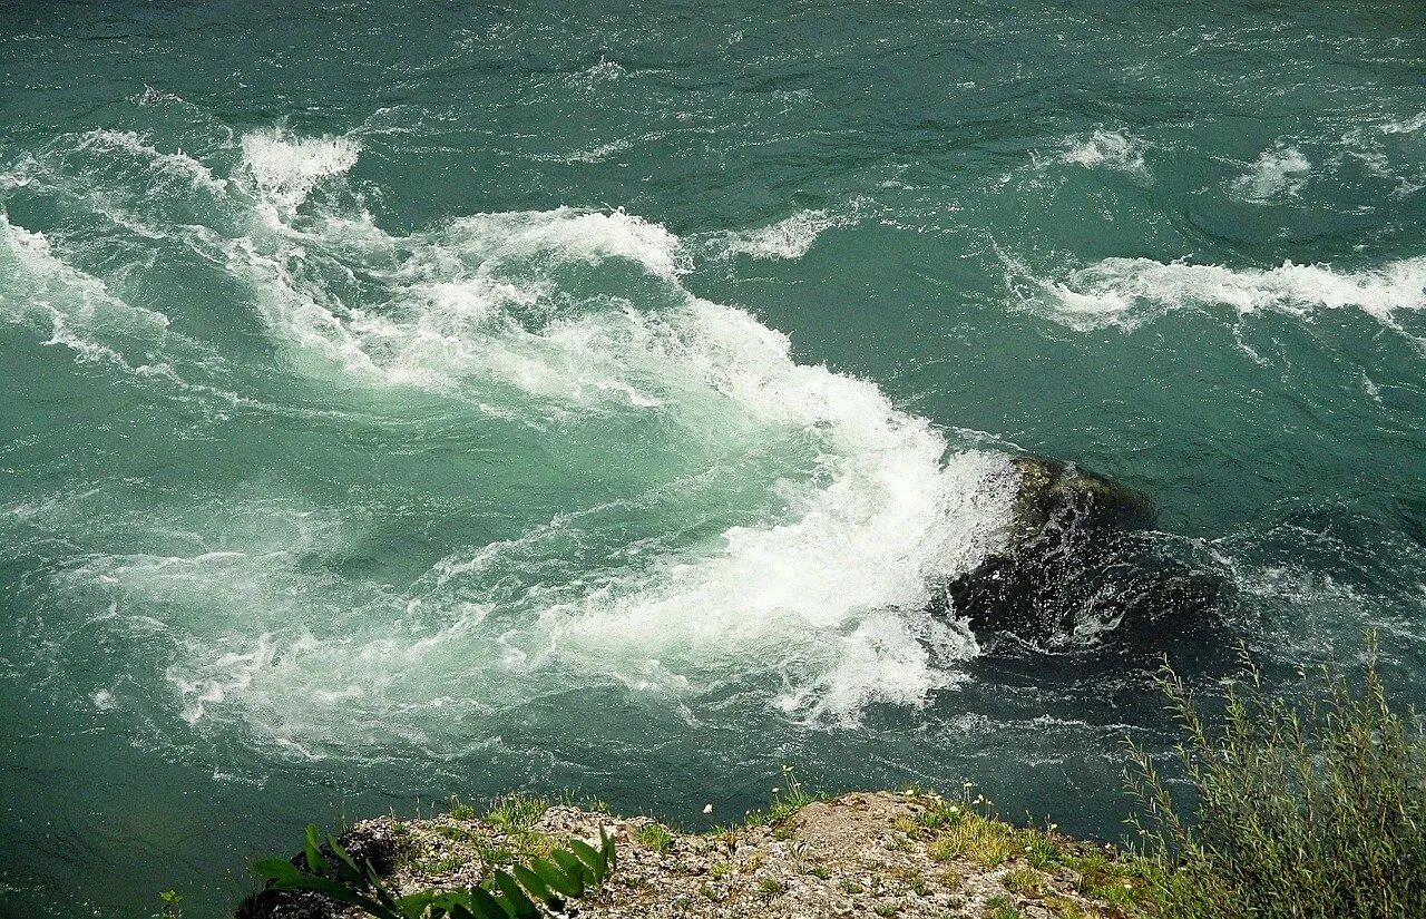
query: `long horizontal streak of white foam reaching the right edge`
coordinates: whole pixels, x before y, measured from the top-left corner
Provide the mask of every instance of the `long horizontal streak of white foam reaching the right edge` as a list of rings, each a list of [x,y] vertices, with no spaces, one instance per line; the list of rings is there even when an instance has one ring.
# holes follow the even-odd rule
[[[1426,258],[1390,262],[1379,269],[1339,272],[1329,265],[1291,261],[1269,269],[1108,258],[1071,272],[1064,281],[1032,278],[1011,262],[1010,282],[1031,279],[1028,299],[1081,331],[1109,325],[1132,329],[1174,309],[1231,306],[1239,313],[1276,311],[1296,316],[1318,309],[1360,309],[1396,328],[1396,311],[1426,308]]]

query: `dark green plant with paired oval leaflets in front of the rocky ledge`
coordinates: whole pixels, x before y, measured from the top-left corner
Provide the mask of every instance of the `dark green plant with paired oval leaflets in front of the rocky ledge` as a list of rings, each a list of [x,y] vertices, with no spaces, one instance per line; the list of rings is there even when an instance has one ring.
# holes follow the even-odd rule
[[[603,831],[599,836],[597,848],[575,839],[548,859],[535,858],[509,872],[493,869],[479,886],[405,896],[394,895],[369,863],[358,866],[335,836],[321,845],[312,825],[302,855],[307,871],[282,858],[255,862],[252,871],[268,879],[270,889],[315,891],[376,919],[536,919],[536,900],[563,909],[566,899],[582,898],[613,871],[613,838]]]

